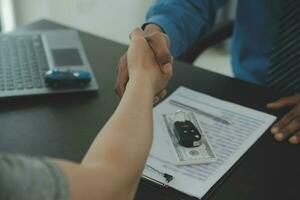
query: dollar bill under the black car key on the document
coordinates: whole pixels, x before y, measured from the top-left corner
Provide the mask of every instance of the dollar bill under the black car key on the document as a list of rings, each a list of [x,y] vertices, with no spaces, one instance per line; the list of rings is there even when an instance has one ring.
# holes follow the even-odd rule
[[[209,144],[205,131],[202,129],[193,112],[185,113],[186,120],[191,121],[201,134],[200,146],[184,147],[178,142],[174,132],[174,114],[164,114],[163,121],[170,137],[170,148],[175,165],[203,164],[217,161],[217,156]]]

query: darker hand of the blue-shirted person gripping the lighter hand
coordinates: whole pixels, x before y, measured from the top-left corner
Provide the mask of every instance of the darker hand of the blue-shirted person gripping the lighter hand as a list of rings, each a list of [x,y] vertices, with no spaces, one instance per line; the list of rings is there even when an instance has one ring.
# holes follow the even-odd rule
[[[156,62],[159,64],[161,72],[169,74],[172,71],[173,58],[170,53],[170,40],[161,29],[154,25],[149,24],[143,31],[143,37],[148,42]],[[115,85],[115,91],[119,96],[123,96],[126,89],[128,77],[128,66],[127,66],[127,52],[121,57],[117,67],[117,80]],[[154,98],[154,103],[157,103],[161,98],[166,95],[166,90],[160,91]]]

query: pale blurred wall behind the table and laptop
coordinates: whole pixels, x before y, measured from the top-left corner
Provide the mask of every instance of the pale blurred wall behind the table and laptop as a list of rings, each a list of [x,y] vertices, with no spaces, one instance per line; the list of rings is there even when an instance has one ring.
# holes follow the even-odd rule
[[[41,18],[76,27],[121,43],[140,26],[155,0],[13,0],[16,24]]]

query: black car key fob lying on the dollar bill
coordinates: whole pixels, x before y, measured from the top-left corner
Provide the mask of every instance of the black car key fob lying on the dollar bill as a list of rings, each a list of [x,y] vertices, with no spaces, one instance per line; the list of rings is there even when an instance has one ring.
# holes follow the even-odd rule
[[[191,121],[176,121],[174,123],[174,133],[181,146],[200,146],[201,130],[198,130]]]

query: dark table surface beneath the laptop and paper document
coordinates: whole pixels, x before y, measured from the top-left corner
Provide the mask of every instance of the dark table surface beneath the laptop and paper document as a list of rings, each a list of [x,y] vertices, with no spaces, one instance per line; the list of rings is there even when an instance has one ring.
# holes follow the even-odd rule
[[[41,20],[20,30],[60,28],[65,27]],[[0,152],[47,155],[77,162],[83,158],[119,102],[114,93],[116,65],[127,47],[84,32],[80,35],[99,91],[1,99]],[[278,97],[266,88],[175,61],[169,92],[180,85],[264,112],[268,112],[266,103]],[[278,143],[267,131],[204,198],[299,199],[299,147]],[[142,181],[136,199],[191,198]]]

